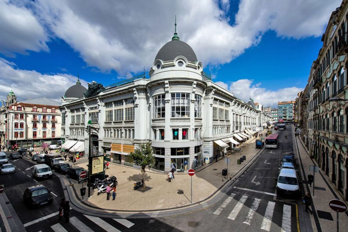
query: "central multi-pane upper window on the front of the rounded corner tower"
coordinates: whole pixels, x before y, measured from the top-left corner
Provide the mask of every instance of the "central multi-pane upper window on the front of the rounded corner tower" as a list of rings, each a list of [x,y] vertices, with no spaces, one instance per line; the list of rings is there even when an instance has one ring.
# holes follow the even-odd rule
[[[172,117],[190,117],[190,94],[174,93],[172,96]]]

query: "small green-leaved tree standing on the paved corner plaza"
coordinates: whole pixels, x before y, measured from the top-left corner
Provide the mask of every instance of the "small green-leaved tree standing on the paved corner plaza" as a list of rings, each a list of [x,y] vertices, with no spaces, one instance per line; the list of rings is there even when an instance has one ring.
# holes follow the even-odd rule
[[[155,164],[151,143],[139,144],[139,147],[134,152],[129,153],[128,157],[130,162],[141,167],[144,181],[143,189],[145,189],[145,168]]]

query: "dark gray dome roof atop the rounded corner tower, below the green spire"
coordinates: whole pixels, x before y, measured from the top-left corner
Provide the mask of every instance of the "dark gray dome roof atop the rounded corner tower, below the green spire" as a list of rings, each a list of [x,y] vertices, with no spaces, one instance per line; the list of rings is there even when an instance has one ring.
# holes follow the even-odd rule
[[[197,56],[193,49],[185,42],[172,40],[159,49],[156,59],[173,61],[177,56],[184,56],[188,61],[197,62]]]

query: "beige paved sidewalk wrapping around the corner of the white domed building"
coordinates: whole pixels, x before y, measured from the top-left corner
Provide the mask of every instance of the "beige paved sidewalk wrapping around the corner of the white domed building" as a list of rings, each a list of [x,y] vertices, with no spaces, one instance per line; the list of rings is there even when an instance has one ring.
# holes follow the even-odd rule
[[[266,133],[263,132],[263,134]],[[234,176],[242,168],[246,167],[248,162],[261,151],[260,149],[255,149],[255,138],[249,139],[247,142],[248,144],[242,148],[242,152],[226,155],[226,157],[230,158],[230,163],[228,164],[228,179],[234,180]],[[237,159],[243,155],[246,156],[246,161],[238,165]],[[87,168],[87,163],[87,159],[80,159],[76,165]],[[221,158],[218,162],[214,160],[213,163],[204,166],[196,172],[192,177],[193,203],[202,203],[202,201],[217,194],[227,183],[231,183],[231,181],[227,181],[226,177],[222,176],[222,169],[226,167],[227,164],[224,158]],[[112,212],[134,213],[169,210],[191,205],[191,177],[187,173],[175,174],[175,178],[169,183],[167,181],[167,174],[147,170],[146,186],[151,189],[146,192],[133,190],[133,183],[142,178],[142,173],[139,169],[112,163],[110,169],[106,170],[106,174],[117,177],[118,186],[115,201],[106,201],[105,193],[97,195],[97,190],[92,190],[92,188],[91,197],[88,199],[85,198],[85,200],[82,201],[79,196],[79,189],[82,184],[69,186],[67,180],[65,180],[64,185],[71,188],[71,191],[68,192],[74,192],[73,196],[69,194],[69,197],[80,201],[80,204],[83,202],[84,207],[90,207],[90,209],[103,209],[106,211],[110,210]]]

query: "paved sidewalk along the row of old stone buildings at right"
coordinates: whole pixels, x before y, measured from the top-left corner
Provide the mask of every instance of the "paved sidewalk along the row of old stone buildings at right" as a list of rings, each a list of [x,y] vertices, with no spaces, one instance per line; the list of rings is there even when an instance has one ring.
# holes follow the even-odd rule
[[[310,159],[309,152],[304,146],[303,142],[299,137],[296,137],[296,143],[298,146],[298,151],[300,154],[300,161],[302,165],[301,173],[305,173],[302,180],[307,180],[307,175],[312,174],[309,172],[309,165],[318,165],[314,159]],[[296,146],[296,144],[294,144]],[[303,167],[303,169],[302,169]],[[305,207],[299,207],[302,210],[301,213],[305,217],[310,217],[313,231],[336,231],[336,212],[329,207],[329,201],[332,199],[339,198],[344,201],[337,191],[334,189],[329,181],[329,178],[323,173],[321,168],[319,168],[319,173],[315,173],[315,189],[313,196],[313,185],[309,187],[309,184],[304,184],[304,190],[310,192],[313,204],[312,211],[313,215],[307,213]],[[321,189],[318,189],[321,188]],[[339,229],[340,232],[348,231],[348,215],[347,213],[339,213]]]

